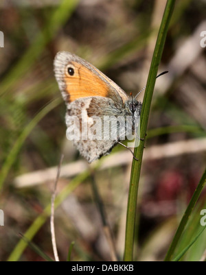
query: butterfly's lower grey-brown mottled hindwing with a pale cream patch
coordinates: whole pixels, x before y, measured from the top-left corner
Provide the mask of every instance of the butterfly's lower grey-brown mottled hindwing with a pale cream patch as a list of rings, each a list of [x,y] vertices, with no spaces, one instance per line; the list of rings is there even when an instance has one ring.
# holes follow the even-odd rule
[[[111,116],[111,111],[115,115]],[[67,105],[67,139],[73,141],[89,163],[109,154],[117,144],[119,133],[124,131],[120,130],[119,124],[116,123],[119,113],[112,99],[107,97],[84,97]],[[113,137],[111,127],[116,131]]]

